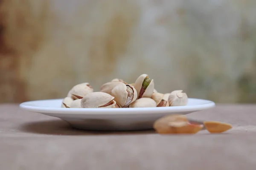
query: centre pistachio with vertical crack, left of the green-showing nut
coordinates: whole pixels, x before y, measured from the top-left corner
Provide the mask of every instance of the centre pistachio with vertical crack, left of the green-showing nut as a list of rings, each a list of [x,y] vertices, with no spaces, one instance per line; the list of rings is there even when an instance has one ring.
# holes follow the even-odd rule
[[[125,85],[124,83],[113,88],[111,94],[122,108],[127,107],[137,99],[136,89],[132,85]]]

